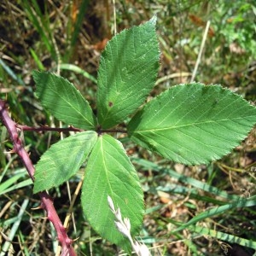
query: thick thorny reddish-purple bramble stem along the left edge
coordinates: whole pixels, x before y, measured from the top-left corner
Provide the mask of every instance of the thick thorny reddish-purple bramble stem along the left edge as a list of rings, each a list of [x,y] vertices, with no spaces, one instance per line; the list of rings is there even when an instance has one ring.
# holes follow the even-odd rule
[[[22,146],[17,131],[17,125],[12,119],[10,119],[9,113],[6,109],[6,102],[3,100],[0,100],[0,119],[2,119],[3,125],[5,125],[7,131],[9,132],[9,137],[14,145],[13,151],[20,156],[20,159],[26,167],[29,176],[32,178],[32,181],[34,181],[35,168],[32,165],[32,161],[30,160],[25,148]],[[61,224],[61,219],[59,218],[53,205],[53,200],[46,192],[40,192],[38,195],[41,198],[41,207],[47,212],[47,218],[55,226],[58,239],[61,242],[61,256],[76,255],[72,246],[73,240],[67,236],[67,232]]]

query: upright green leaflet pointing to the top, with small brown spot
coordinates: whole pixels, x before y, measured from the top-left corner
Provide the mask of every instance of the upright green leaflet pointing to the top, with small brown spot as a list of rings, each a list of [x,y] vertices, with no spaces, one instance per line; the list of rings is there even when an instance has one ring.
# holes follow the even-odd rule
[[[156,16],[120,32],[102,52],[96,100],[103,129],[124,121],[154,87],[160,58],[155,23]]]

